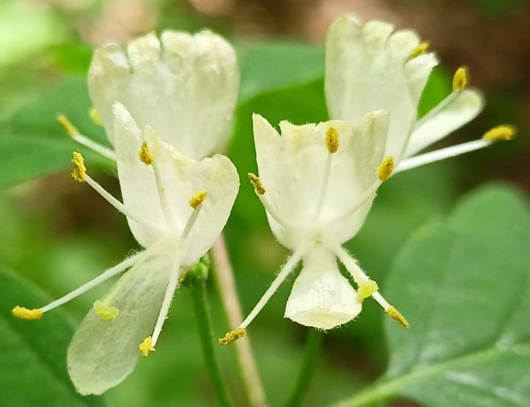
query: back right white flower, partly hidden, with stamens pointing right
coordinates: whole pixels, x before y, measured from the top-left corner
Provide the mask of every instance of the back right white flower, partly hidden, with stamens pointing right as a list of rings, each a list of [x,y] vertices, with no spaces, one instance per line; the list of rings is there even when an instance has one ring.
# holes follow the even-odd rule
[[[453,92],[417,120],[418,103],[432,68],[438,65],[428,42],[412,30],[394,32],[383,21],[361,23],[339,17],[326,40],[325,94],[332,119],[355,122],[377,109],[389,113],[386,156],[395,173],[511,139],[513,126],[502,125],[475,140],[416,156],[431,144],[473,120],[484,107],[477,89],[467,88],[467,68],[456,71]]]

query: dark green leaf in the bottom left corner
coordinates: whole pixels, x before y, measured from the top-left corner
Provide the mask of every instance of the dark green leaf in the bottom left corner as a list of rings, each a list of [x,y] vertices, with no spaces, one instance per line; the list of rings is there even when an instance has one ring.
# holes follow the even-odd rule
[[[76,393],[66,370],[66,349],[72,324],[60,311],[42,320],[22,321],[11,314],[13,306],[41,306],[49,298],[19,277],[0,271],[2,310],[0,332],[0,388],[2,405],[46,407],[104,406],[103,399]]]

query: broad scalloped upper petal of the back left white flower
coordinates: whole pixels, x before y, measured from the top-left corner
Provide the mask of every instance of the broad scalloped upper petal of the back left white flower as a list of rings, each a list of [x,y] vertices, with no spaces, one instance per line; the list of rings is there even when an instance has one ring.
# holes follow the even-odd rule
[[[109,141],[112,105],[121,102],[140,128],[202,159],[224,142],[237,98],[239,71],[233,48],[219,35],[166,31],[129,43],[127,53],[105,44],[94,53],[89,89]]]

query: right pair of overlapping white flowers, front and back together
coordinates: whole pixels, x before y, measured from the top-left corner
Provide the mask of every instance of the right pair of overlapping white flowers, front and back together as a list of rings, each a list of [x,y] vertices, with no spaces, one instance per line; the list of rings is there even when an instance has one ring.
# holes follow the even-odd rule
[[[467,71],[461,68],[453,93],[416,120],[419,98],[438,63],[427,48],[413,31],[393,33],[388,23],[362,25],[355,16],[340,17],[328,34],[325,76],[330,115],[340,120],[301,126],[284,121],[280,136],[254,115],[260,177],[249,176],[273,234],[293,254],[240,327],[219,343],[245,334],[300,260],[303,268],[287,301],[287,318],[331,329],[355,318],[363,300],[372,296],[388,315],[409,327],[342,244],[361,228],[377,188],[394,172],[510,139],[515,133],[511,126],[498,126],[482,140],[409,158],[472,120],[483,106],[480,93],[466,89]],[[358,291],[340,274],[336,257]]]

